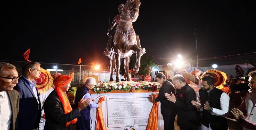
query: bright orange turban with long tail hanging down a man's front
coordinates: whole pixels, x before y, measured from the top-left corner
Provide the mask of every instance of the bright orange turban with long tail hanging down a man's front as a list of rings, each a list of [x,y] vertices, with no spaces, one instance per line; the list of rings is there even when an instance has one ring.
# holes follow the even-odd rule
[[[72,81],[74,77],[74,73],[71,73],[70,76],[61,75],[60,73],[54,73],[52,77],[54,78],[53,80],[53,84],[55,86],[54,89],[57,92],[58,96],[60,97],[61,103],[64,108],[64,112],[65,114],[70,113],[72,111],[71,105],[68,101],[68,98],[65,96],[64,92],[62,92],[61,88]],[[77,118],[72,121],[66,122],[66,126],[68,126],[71,123],[74,124],[76,122],[77,122]]]

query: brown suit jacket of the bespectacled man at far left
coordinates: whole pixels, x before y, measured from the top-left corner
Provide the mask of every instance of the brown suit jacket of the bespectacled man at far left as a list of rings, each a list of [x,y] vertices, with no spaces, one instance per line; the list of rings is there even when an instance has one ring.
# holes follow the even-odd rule
[[[17,126],[17,115],[19,112],[19,103],[20,103],[20,94],[16,90],[7,91],[7,95],[10,100],[11,104],[11,124],[10,124],[10,130],[18,129]]]

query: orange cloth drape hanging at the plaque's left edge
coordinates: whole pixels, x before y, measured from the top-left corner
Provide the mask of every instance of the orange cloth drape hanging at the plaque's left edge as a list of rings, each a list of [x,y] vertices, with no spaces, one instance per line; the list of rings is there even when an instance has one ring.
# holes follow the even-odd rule
[[[103,101],[105,101],[105,97],[104,96],[99,98],[98,103],[102,103]],[[101,107],[97,108],[96,120],[97,120],[96,130],[106,130],[106,125],[104,124],[104,118],[103,118],[102,108]]]

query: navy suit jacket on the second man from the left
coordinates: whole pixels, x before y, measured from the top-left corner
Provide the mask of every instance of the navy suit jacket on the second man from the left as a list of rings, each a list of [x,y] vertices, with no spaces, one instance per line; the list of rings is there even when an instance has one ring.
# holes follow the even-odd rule
[[[18,80],[18,84],[14,87],[20,93],[20,112],[18,113],[18,128],[21,130],[32,130],[38,128],[41,116],[41,103],[39,93],[37,98],[34,96],[33,90],[23,76]]]

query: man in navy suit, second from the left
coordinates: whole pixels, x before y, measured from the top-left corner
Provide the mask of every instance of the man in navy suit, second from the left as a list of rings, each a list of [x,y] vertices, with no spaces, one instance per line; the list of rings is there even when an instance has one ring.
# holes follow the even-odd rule
[[[20,93],[18,126],[21,130],[33,130],[39,126],[41,103],[35,79],[40,77],[40,73],[39,63],[26,63],[22,68],[22,76],[14,87]]]

